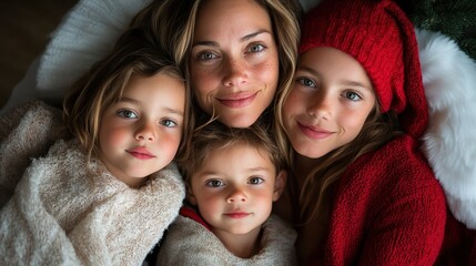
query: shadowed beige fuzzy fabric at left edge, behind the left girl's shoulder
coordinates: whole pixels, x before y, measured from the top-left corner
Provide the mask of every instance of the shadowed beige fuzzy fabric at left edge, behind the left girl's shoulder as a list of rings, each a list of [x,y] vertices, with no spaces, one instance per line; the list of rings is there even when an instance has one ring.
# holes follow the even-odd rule
[[[0,208],[13,195],[31,158],[69,137],[61,110],[40,101],[26,102],[0,116]]]

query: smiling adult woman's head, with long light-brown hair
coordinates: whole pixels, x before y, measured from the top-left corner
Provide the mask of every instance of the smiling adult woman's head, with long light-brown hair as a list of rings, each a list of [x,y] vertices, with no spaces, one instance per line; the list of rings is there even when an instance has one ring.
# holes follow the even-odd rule
[[[199,120],[247,127],[273,117],[276,94],[292,83],[298,16],[293,0],[164,0],[132,27],[149,28],[189,68]]]

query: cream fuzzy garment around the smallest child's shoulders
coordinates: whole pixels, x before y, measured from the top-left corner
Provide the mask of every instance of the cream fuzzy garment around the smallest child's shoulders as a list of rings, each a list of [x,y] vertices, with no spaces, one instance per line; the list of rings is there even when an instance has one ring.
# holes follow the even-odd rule
[[[262,249],[251,258],[240,258],[202,224],[179,216],[161,243],[156,265],[296,265],[296,233],[277,216],[271,215],[263,225]]]

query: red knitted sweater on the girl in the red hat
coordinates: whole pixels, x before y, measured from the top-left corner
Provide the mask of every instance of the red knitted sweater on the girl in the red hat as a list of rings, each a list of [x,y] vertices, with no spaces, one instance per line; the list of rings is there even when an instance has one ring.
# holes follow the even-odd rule
[[[416,142],[397,137],[361,156],[336,184],[324,248],[311,265],[433,265],[445,195]]]

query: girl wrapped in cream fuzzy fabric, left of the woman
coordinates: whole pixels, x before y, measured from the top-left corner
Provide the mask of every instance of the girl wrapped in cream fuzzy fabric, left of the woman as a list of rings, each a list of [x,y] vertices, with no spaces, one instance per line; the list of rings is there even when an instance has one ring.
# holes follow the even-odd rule
[[[125,32],[64,100],[75,137],[33,160],[1,209],[2,264],[139,265],[178,215],[188,92],[149,40]]]

